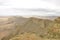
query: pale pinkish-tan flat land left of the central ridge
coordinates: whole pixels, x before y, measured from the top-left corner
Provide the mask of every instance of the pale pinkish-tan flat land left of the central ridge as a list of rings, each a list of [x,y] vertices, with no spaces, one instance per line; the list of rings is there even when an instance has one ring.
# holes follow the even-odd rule
[[[15,32],[15,22],[13,17],[0,17],[0,39]]]

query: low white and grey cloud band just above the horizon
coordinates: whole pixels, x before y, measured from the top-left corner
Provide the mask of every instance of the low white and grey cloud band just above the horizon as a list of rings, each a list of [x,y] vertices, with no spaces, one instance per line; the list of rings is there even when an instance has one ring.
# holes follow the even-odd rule
[[[60,14],[56,14],[55,12],[45,12],[45,11],[31,11],[27,9],[13,9],[13,8],[5,8],[0,10],[0,16],[59,16]]]

